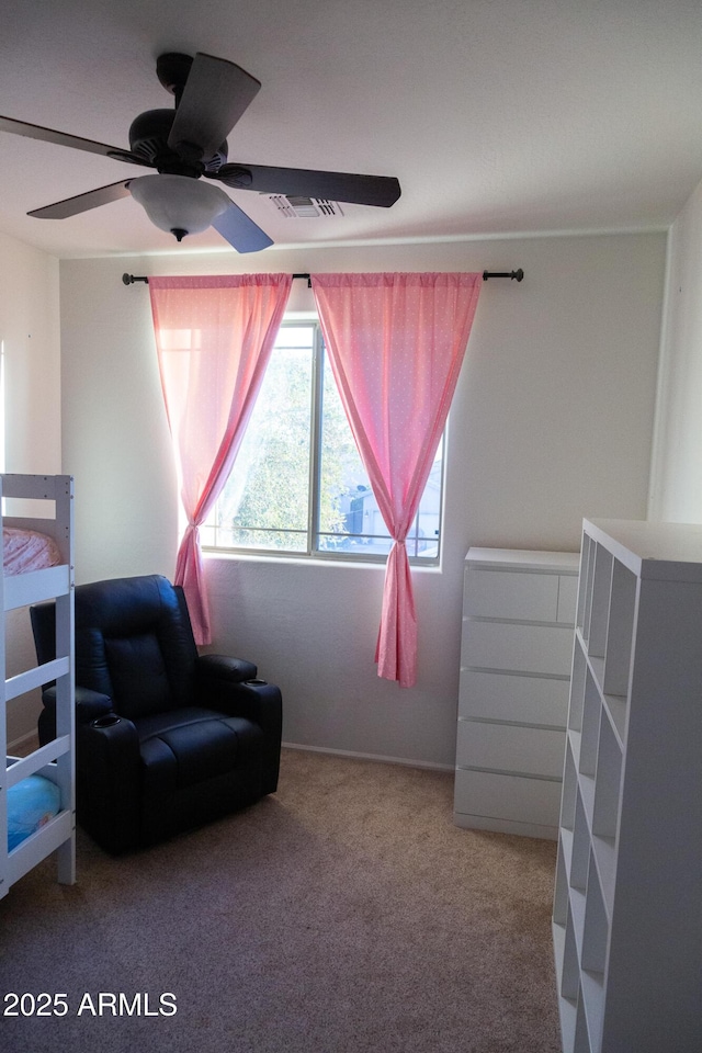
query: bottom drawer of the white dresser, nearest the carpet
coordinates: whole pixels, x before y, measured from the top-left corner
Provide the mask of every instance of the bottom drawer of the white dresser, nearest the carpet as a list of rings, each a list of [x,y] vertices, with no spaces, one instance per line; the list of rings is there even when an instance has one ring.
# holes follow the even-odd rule
[[[458,770],[454,809],[464,815],[557,827],[561,783]]]

